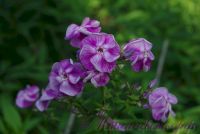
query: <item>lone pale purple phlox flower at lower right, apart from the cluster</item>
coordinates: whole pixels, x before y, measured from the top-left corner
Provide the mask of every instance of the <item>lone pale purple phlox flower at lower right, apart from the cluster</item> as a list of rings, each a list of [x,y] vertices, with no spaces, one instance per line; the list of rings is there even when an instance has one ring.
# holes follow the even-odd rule
[[[166,121],[169,114],[175,116],[172,104],[176,104],[177,98],[168,92],[165,87],[156,88],[148,97],[152,116],[155,120]]]

